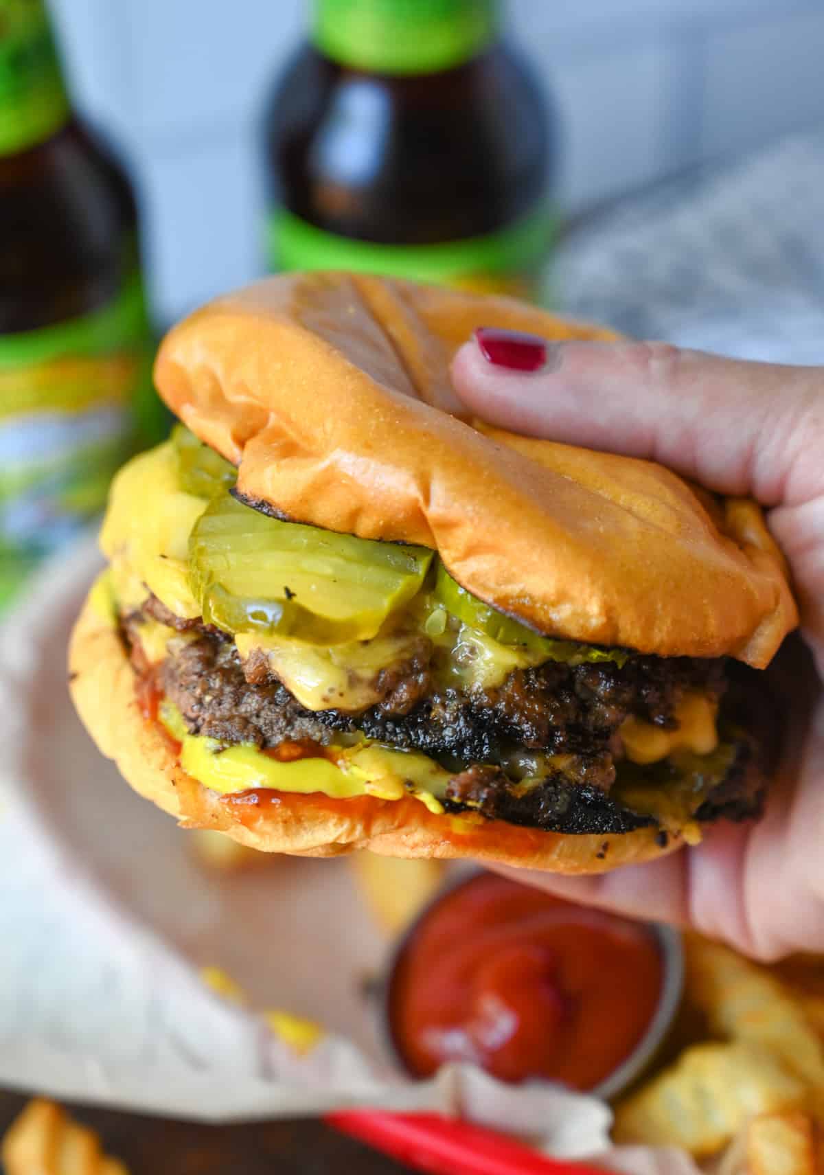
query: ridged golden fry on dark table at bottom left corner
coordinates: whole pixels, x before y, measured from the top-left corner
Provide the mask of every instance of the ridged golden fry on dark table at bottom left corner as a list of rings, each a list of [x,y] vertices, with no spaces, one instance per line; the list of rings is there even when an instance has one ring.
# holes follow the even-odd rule
[[[12,1122],[0,1156],[6,1175],[128,1175],[119,1159],[101,1153],[94,1130],[41,1097],[28,1102]]]

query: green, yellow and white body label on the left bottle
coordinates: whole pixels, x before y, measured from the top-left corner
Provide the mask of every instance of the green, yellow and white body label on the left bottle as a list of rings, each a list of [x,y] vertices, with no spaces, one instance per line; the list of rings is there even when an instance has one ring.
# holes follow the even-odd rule
[[[140,277],[68,322],[0,335],[0,604],[100,511],[149,438],[153,344]],[[154,430],[156,432],[156,430]]]

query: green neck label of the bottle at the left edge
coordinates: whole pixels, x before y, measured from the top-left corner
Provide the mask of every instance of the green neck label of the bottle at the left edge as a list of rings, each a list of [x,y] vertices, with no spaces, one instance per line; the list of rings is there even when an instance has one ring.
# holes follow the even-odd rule
[[[0,156],[43,142],[69,116],[43,0],[0,0]]]

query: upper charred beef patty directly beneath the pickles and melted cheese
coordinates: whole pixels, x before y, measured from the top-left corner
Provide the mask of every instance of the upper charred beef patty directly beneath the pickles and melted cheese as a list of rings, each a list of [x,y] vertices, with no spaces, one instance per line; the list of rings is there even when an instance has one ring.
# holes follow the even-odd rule
[[[246,672],[244,672],[246,669]],[[433,689],[408,713],[390,699],[357,714],[304,710],[280,682],[248,680],[232,642],[213,633],[181,645],[162,667],[162,689],[193,734],[226,743],[272,747],[284,739],[330,741],[334,731],[363,731],[368,738],[434,758],[500,763],[513,747],[575,754],[587,781],[607,791],[603,758],[629,714],[674,727],[675,706],[688,687],[723,692],[723,673],[711,662],[638,658],[612,663],[515,670],[497,690],[462,693]],[[583,781],[583,780],[582,780]]]

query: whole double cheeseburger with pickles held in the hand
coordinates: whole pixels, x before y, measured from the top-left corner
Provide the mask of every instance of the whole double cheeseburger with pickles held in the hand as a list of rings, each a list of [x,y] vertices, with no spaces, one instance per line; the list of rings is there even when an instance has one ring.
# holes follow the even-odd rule
[[[187,827],[256,848],[599,872],[758,814],[796,623],[759,509],[465,417],[477,325],[610,338],[347,274],[192,315],[181,423],[110,494],[80,716]]]

